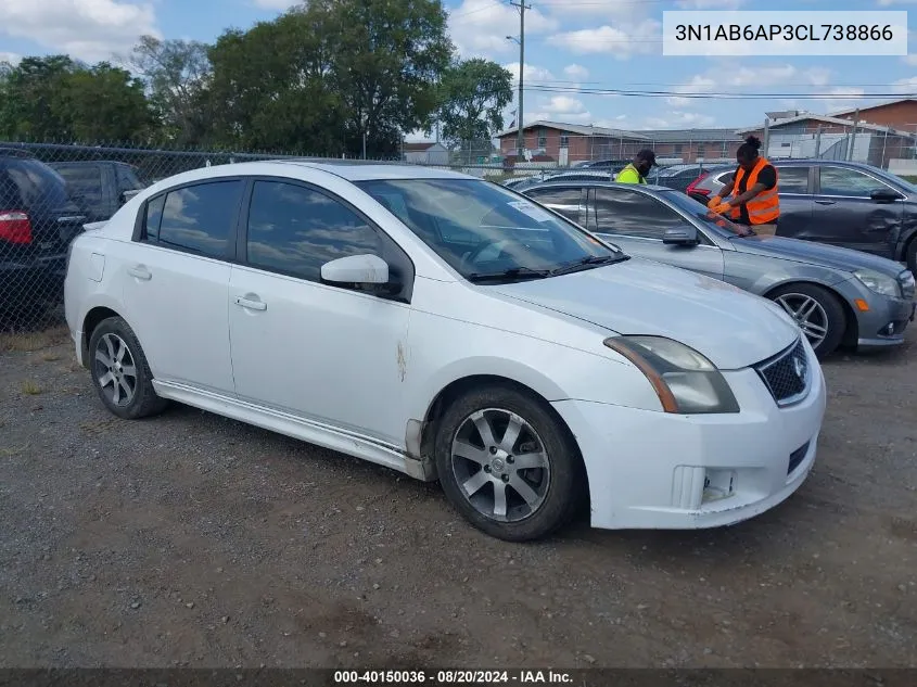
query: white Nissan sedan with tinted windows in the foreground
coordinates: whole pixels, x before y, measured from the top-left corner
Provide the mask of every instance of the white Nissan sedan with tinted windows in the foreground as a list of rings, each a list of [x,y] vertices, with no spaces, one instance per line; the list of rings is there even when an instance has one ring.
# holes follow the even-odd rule
[[[162,180],[74,241],[66,316],[114,415],[178,402],[438,480],[510,540],[586,504],[603,529],[756,516],[805,480],[825,412],[768,301],[415,166]]]

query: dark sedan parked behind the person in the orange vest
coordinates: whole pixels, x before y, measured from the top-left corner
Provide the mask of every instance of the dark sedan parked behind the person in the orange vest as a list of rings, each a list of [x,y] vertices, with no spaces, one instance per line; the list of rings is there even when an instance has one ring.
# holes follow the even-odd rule
[[[770,162],[780,186],[779,236],[881,255],[917,275],[917,187],[858,163]],[[688,193],[705,203],[735,170],[717,167]]]

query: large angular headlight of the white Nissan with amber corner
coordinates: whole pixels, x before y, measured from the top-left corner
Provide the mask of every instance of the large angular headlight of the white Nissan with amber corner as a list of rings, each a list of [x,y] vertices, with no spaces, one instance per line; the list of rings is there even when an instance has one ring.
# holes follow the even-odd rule
[[[739,404],[719,370],[693,348],[662,336],[612,336],[604,345],[646,374],[665,412],[738,412]]]

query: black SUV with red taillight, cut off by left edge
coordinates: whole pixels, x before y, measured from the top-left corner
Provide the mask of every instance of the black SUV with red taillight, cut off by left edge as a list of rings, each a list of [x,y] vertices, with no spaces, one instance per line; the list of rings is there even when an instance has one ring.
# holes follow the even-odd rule
[[[67,246],[84,221],[56,171],[0,149],[0,310],[20,317],[61,302]]]

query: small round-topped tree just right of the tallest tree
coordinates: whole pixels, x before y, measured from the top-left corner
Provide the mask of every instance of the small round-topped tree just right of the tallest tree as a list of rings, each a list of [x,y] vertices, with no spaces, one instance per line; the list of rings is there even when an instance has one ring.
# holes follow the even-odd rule
[[[457,148],[463,141],[484,141],[504,126],[502,110],[512,102],[512,74],[489,60],[457,62],[443,75],[440,87],[443,138]]]

